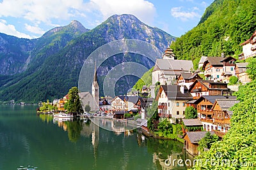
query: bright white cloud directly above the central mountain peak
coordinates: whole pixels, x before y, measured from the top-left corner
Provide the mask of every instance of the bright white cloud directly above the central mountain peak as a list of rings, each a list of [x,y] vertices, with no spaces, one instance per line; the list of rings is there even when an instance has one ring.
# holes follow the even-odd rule
[[[90,0],[93,10],[99,10],[103,19],[114,14],[132,14],[146,24],[152,24],[156,15],[154,4],[145,0]]]

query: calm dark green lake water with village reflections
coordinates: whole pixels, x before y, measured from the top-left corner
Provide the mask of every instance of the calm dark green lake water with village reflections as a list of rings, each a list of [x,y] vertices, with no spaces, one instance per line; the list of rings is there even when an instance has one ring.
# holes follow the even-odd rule
[[[115,133],[90,121],[54,121],[36,106],[0,105],[0,169],[186,169],[166,166],[186,160],[177,141]]]

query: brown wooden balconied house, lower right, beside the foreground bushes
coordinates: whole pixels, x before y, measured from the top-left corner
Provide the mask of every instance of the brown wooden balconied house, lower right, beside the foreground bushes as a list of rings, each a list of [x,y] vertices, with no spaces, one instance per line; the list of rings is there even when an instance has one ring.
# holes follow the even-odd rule
[[[212,118],[214,118],[214,125],[217,126],[216,134],[222,138],[222,136],[230,129],[230,119],[233,115],[233,111],[230,108],[234,104],[239,103],[236,99],[216,99],[212,106],[214,112]]]

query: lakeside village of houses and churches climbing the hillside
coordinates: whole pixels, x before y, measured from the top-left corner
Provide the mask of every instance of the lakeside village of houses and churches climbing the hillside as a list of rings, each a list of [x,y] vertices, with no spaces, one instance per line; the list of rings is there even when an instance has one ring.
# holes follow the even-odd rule
[[[256,31],[250,39],[241,44],[243,53],[239,59],[225,56],[202,56],[198,69],[192,60],[177,60],[171,48],[167,48],[161,59],[156,60],[152,71],[152,85],[143,86],[136,92],[125,96],[100,97],[97,70],[92,83],[92,93],[79,92],[83,110],[97,113],[96,117],[108,115],[115,120],[136,120],[143,134],[150,136],[148,129],[148,109],[157,101],[159,121],[168,120],[170,124],[182,124],[184,148],[191,155],[198,155],[198,142],[207,132],[222,139],[230,129],[232,106],[239,103],[232,96],[239,88],[250,82],[246,73],[245,59],[256,55]],[[236,81],[234,81],[236,80]],[[234,82],[233,82],[234,81]],[[52,104],[58,111],[65,111],[68,94],[63,99],[54,99]],[[193,107],[197,118],[185,118],[186,108]],[[89,110],[88,110],[89,108]]]

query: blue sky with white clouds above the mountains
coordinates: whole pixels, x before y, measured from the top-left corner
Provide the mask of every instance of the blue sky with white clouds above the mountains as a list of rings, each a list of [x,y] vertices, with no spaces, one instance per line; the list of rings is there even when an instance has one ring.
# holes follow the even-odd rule
[[[114,14],[129,13],[151,27],[180,37],[195,27],[214,0],[0,0],[0,32],[39,38],[78,20],[93,29]]]

